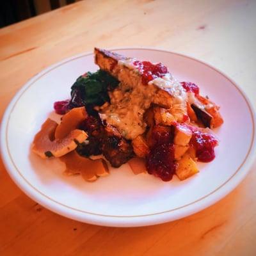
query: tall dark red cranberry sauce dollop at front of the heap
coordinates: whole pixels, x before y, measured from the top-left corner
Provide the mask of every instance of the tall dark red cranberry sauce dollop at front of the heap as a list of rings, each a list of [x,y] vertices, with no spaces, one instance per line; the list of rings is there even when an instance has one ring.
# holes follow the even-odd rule
[[[156,125],[152,130],[152,147],[146,158],[147,171],[164,181],[171,180],[176,170],[173,129]]]

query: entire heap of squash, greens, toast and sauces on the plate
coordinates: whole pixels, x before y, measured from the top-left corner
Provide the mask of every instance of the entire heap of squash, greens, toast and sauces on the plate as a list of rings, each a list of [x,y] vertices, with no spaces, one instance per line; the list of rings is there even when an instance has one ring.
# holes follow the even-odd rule
[[[164,181],[188,179],[197,161],[214,159],[223,124],[220,107],[200,88],[179,82],[162,63],[95,48],[97,72],[71,86],[71,99],[54,103],[60,124],[47,119],[33,141],[43,158],[60,157],[65,173],[93,181],[108,175],[107,162],[129,163],[135,174]]]

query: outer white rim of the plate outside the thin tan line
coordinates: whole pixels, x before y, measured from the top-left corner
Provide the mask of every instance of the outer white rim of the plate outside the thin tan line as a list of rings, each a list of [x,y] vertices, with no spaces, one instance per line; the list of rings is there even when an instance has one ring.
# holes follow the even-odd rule
[[[12,114],[13,109],[15,108],[15,104],[18,102],[19,98],[22,96],[22,93],[26,92],[28,88],[35,83],[40,77],[47,74],[47,72],[51,72],[54,68],[60,67],[61,65],[76,60],[77,58],[83,58],[86,56],[90,56],[93,54],[92,51],[89,52],[82,52],[80,54],[76,54],[74,56],[70,56],[69,58],[65,58],[64,60],[58,61],[57,63],[54,63],[50,65],[47,68],[44,68],[40,72],[38,72],[35,76],[31,77],[21,88],[20,90],[15,94],[13,99],[10,101],[8,107],[6,108],[3,119],[1,122],[1,155],[3,159],[4,166],[6,167],[7,172],[12,177],[12,180],[19,186],[19,188],[26,193],[30,198],[35,200],[36,202],[39,202],[42,204],[45,208],[50,209],[53,212],[56,212],[58,214],[61,214],[63,216],[66,216],[68,218],[72,218],[74,220],[83,221],[86,223],[92,223],[97,225],[106,225],[106,226],[112,226],[112,227],[136,227],[136,226],[143,226],[143,225],[154,225],[157,223],[163,223],[166,221],[173,221],[177,220],[179,218],[183,218],[185,216],[189,216],[195,212],[202,211],[202,209],[205,209],[209,207],[210,205],[218,202],[226,196],[228,193],[230,193],[236,186],[244,179],[244,177],[247,175],[247,173],[250,171],[250,167],[253,164],[254,161],[254,153],[256,151],[255,147],[255,110],[253,108],[252,103],[250,102],[250,99],[248,99],[246,93],[234,82],[232,79],[230,79],[227,75],[223,74],[218,68],[212,67],[208,63],[205,63],[202,60],[198,60],[196,58],[193,58],[191,56],[187,56],[185,54],[181,54],[179,52],[172,52],[167,51],[163,49],[157,49],[156,47],[118,47],[115,49],[109,49],[109,51],[120,51],[120,50],[144,50],[144,51],[160,51],[160,52],[166,52],[167,54],[175,54],[182,56],[184,58],[189,58],[193,61],[197,61],[199,63],[202,63],[203,65],[211,68],[215,72],[218,72],[221,74],[221,76],[225,77],[232,85],[239,91],[239,94],[243,97],[243,99],[246,102],[246,105],[250,111],[250,116],[252,118],[252,125],[253,125],[253,132],[252,132],[252,141],[250,148],[244,157],[243,162],[237,168],[236,172],[229,177],[228,180],[226,180],[221,186],[214,189],[211,193],[203,196],[202,198],[199,198],[198,200],[195,200],[189,204],[182,205],[180,207],[177,207],[175,209],[163,211],[163,212],[155,212],[152,214],[142,214],[138,216],[111,216],[111,215],[104,215],[104,214],[97,214],[93,212],[86,212],[79,209],[75,209],[73,207],[70,207],[68,205],[62,204],[60,202],[57,202],[56,200],[49,198],[49,196],[44,195],[44,193],[40,192],[39,190],[35,189],[28,180],[26,180],[19,170],[13,170],[16,168],[15,164],[12,162],[11,154],[8,152],[8,146],[6,143],[4,143],[7,139],[6,134],[8,132],[8,118]],[[243,171],[243,172],[242,172]],[[23,180],[20,180],[17,177],[17,173],[19,174],[20,178]],[[232,181],[231,181],[232,180]],[[28,188],[28,186],[31,186],[31,188]],[[39,195],[38,195],[39,193]],[[43,196],[43,198],[42,198]],[[45,197],[45,198],[44,198]],[[52,202],[47,202],[47,200],[51,200]],[[54,205],[58,204],[58,205]],[[195,206],[194,209],[192,206]],[[64,207],[64,209],[63,209]],[[67,209],[65,209],[67,208]],[[177,213],[177,210],[180,211],[179,214],[175,214],[175,211]],[[70,212],[75,211],[75,212]],[[83,216],[81,216],[81,212]],[[173,214],[174,213],[174,214]],[[159,218],[159,216],[162,216],[162,218]],[[143,219],[144,218],[144,219]],[[104,219],[104,220],[102,220]],[[143,219],[143,220],[142,220]]]

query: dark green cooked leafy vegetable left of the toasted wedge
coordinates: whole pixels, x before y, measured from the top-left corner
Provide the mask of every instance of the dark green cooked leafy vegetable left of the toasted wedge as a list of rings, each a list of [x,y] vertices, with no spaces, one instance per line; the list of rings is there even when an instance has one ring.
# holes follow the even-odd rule
[[[71,104],[73,106],[101,106],[109,102],[108,92],[118,86],[119,81],[104,70],[88,72],[79,76],[71,87]]]

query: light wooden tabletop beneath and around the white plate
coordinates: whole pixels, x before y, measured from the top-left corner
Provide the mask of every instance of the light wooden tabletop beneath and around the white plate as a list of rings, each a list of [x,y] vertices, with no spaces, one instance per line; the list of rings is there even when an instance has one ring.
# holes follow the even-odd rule
[[[148,46],[200,58],[255,106],[256,1],[82,1],[0,29],[0,118],[43,68],[94,46]],[[256,164],[223,200],[140,228],[87,225],[24,195],[0,161],[0,255],[256,255]]]

